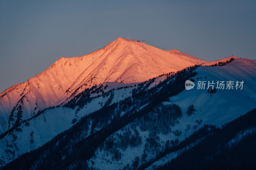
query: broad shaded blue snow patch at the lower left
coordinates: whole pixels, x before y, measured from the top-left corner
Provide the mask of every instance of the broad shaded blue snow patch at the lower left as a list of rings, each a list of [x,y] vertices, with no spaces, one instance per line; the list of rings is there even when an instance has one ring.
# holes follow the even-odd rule
[[[0,139],[0,154],[4,156],[6,163],[10,160],[8,155],[4,152],[7,149],[6,144],[17,145],[19,151],[15,151],[14,158],[18,154],[29,152],[36,149],[41,145],[51,140],[54,136],[60,132],[68,129],[72,126],[72,118],[75,116],[75,111],[66,108],[58,107],[54,109],[46,110],[43,114],[29,121],[29,126],[25,123],[21,125],[22,131],[15,131],[9,133],[4,138]],[[33,143],[30,142],[31,132],[33,133]],[[17,136],[14,140],[13,135]]]

